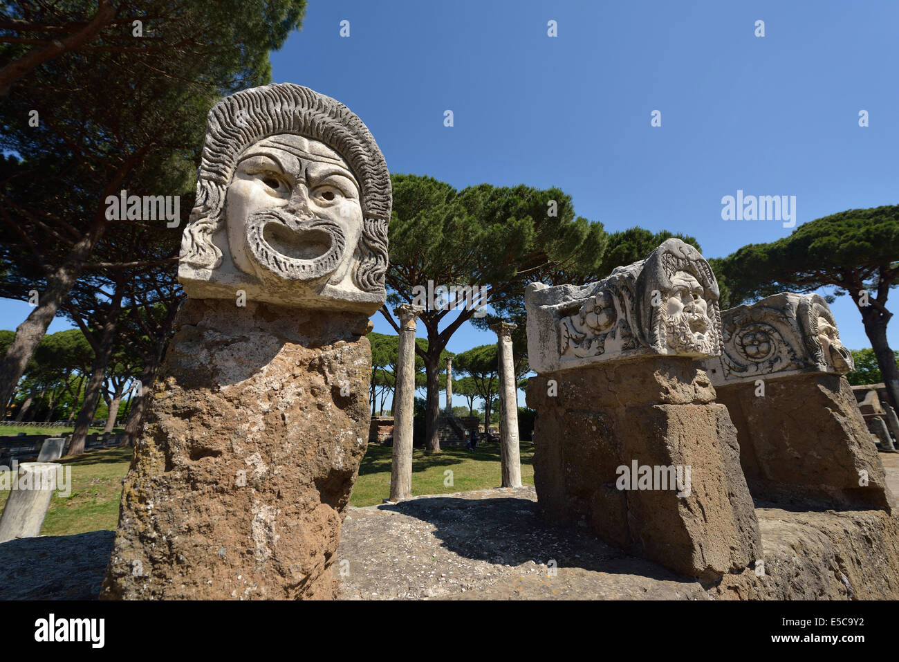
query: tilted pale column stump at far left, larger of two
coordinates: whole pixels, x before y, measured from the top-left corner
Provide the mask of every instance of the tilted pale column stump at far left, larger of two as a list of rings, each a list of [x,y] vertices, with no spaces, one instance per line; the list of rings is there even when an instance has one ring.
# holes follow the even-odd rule
[[[13,477],[9,497],[0,515],[0,542],[40,535],[40,527],[57,489],[55,462],[22,462]]]

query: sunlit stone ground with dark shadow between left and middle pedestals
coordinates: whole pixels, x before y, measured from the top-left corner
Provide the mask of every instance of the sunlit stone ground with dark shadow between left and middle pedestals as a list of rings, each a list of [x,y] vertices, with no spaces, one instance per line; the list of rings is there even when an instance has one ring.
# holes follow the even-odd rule
[[[534,488],[497,488],[350,508],[339,596],[708,599],[699,582],[548,525],[536,501]]]

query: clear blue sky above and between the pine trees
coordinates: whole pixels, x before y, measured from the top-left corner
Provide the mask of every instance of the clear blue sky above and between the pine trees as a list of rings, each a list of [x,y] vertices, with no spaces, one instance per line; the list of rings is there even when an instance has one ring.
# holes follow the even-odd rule
[[[272,77],[348,105],[391,172],[557,185],[610,231],[688,233],[717,257],[790,231],[722,220],[738,189],[795,195],[797,224],[899,201],[897,24],[895,2],[310,0]],[[869,346],[851,302],[832,308],[844,343]],[[0,301],[5,328],[28,312]],[[889,340],[899,347],[899,322]],[[449,350],[492,342],[466,325]]]

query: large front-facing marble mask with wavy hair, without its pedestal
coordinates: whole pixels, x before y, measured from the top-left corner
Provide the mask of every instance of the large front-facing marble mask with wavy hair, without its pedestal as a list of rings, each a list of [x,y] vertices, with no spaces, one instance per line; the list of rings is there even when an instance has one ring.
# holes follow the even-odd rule
[[[300,85],[209,112],[178,277],[192,299],[373,314],[384,302],[387,165],[342,103]]]

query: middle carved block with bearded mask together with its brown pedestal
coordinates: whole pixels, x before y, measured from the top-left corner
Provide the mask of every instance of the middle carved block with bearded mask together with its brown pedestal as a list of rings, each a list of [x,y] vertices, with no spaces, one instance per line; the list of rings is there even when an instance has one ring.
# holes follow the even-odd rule
[[[583,286],[525,290],[538,505],[693,577],[752,567],[736,430],[696,359],[721,352],[715,274],[668,239]]]

